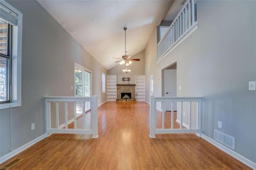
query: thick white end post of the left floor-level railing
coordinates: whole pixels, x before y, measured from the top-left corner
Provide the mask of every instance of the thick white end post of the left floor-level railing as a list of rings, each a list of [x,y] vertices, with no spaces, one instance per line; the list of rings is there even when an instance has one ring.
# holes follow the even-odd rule
[[[92,138],[98,138],[98,97],[92,97]]]

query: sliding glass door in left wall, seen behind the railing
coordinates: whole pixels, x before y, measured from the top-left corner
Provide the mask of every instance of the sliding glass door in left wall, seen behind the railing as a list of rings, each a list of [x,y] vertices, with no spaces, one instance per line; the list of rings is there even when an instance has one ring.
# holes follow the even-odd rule
[[[91,96],[91,73],[86,71],[82,66],[75,65],[75,97],[90,97]],[[76,114],[82,114],[83,109],[85,112],[89,111],[90,102],[76,103]]]

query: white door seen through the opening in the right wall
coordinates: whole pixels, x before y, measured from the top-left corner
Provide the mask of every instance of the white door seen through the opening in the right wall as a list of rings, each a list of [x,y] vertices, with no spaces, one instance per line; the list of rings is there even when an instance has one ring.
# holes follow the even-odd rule
[[[174,69],[164,70],[164,96],[165,97],[177,97],[177,71]],[[177,102],[165,103],[166,111],[177,111]],[[172,106],[172,108],[171,108]]]

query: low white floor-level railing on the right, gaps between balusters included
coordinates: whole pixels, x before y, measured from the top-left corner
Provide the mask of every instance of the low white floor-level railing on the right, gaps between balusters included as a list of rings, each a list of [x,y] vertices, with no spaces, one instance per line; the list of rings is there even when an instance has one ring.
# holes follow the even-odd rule
[[[157,102],[161,103],[162,112],[157,111]],[[167,107],[170,111],[166,111]],[[150,97],[149,136],[168,133],[202,133],[202,98]]]

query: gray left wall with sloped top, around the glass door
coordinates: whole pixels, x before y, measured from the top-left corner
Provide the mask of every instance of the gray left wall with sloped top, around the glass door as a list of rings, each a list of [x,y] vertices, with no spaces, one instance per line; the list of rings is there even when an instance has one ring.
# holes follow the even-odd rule
[[[74,96],[74,62],[92,71],[92,95],[98,104],[102,72],[92,57],[37,1],[8,1],[23,14],[22,107],[12,109],[12,149],[45,134],[44,96]],[[36,129],[31,131],[31,123]],[[10,149],[10,109],[0,110],[0,156]]]

